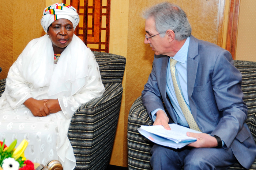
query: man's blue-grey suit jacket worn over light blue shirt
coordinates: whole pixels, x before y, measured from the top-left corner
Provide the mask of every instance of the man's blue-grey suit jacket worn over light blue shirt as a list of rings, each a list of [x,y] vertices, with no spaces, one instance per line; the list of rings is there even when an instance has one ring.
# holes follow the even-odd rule
[[[177,123],[166,94],[168,56],[155,55],[154,66],[142,91],[147,112],[163,108],[162,100]],[[241,90],[241,72],[223,48],[190,36],[187,58],[188,99],[193,118],[203,133],[217,135],[231,147],[240,164],[249,168],[256,145],[245,124],[247,107]]]

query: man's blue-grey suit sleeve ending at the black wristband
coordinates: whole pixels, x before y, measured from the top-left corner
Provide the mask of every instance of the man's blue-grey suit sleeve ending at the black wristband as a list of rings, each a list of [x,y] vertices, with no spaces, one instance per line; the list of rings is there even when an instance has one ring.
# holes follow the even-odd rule
[[[247,106],[241,90],[242,75],[234,67],[228,51],[219,54],[212,73],[212,89],[219,111],[223,114],[211,135],[217,135],[227,148],[236,138],[247,118]]]

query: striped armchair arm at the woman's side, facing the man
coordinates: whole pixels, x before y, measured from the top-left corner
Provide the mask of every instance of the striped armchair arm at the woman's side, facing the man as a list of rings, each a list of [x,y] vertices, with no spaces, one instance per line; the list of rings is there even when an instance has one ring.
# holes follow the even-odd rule
[[[108,166],[123,87],[120,82],[104,86],[103,96],[83,104],[71,119],[68,138],[76,158],[75,169],[103,170]]]

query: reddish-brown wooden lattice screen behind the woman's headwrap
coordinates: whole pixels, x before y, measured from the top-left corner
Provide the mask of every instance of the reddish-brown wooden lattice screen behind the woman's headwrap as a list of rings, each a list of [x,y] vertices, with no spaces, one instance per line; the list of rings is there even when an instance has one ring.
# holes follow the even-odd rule
[[[63,0],[77,9],[77,35],[92,51],[109,52],[110,0]]]

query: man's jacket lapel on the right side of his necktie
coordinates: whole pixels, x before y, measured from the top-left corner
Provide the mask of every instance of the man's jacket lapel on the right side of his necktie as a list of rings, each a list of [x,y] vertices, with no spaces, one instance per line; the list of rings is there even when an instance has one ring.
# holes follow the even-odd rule
[[[188,100],[191,113],[196,120],[196,105],[192,100],[192,93],[196,81],[196,73],[198,62],[194,58],[198,55],[198,42],[194,36],[190,36],[187,58],[187,86],[188,86]]]

